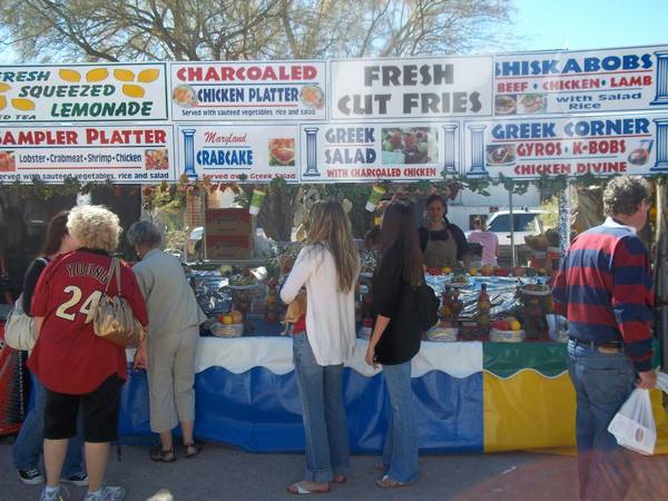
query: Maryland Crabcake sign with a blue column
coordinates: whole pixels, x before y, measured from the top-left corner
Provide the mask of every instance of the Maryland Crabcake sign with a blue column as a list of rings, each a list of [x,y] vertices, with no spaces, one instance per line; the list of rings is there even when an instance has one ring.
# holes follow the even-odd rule
[[[179,126],[180,165],[190,178],[297,180],[297,126]]]

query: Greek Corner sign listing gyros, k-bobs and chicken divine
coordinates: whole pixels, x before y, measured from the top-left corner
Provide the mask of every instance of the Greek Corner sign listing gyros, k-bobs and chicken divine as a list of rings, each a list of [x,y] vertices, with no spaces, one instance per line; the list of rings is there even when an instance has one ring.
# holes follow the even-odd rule
[[[646,175],[668,169],[668,116],[464,122],[466,176]]]

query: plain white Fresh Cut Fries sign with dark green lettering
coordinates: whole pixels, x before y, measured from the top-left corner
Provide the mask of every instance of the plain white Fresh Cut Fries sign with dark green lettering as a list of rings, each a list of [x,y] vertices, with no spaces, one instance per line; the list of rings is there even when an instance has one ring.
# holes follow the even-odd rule
[[[492,114],[492,57],[335,60],[333,120]]]

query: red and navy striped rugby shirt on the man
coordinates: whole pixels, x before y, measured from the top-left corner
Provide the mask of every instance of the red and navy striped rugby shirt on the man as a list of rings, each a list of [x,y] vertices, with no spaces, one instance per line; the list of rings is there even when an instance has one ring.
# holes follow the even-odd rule
[[[554,311],[569,321],[569,336],[623,342],[639,372],[651,370],[651,275],[636,230],[611,218],[578,235],[554,277]]]

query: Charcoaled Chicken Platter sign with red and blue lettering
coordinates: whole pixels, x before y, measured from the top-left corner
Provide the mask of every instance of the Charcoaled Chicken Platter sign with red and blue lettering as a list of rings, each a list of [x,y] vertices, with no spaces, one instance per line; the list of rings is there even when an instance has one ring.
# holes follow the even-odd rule
[[[171,63],[174,120],[288,120],[326,118],[326,63]]]

